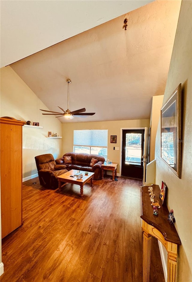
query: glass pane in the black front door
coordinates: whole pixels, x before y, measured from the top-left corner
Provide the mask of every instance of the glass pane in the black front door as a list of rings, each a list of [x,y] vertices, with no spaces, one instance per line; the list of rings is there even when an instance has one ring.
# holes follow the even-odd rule
[[[141,165],[142,133],[126,133],[125,164]]]

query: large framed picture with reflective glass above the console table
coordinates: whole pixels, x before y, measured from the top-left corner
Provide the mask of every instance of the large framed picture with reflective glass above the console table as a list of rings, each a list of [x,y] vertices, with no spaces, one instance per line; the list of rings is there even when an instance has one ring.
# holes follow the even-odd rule
[[[181,83],[161,108],[161,159],[181,178]]]

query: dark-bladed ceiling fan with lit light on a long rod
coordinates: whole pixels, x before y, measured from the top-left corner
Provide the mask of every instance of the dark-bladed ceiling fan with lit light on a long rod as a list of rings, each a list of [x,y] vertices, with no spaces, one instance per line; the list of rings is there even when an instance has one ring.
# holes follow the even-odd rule
[[[76,111],[72,111],[72,112],[69,110],[69,84],[71,83],[71,80],[69,78],[67,79],[67,83],[68,83],[67,110],[64,111],[64,109],[62,109],[59,106],[58,106],[58,108],[63,111],[61,113],[60,112],[53,112],[53,111],[47,111],[47,110],[40,109],[41,111],[52,113],[52,114],[44,114],[43,113],[42,115],[59,115],[56,118],[60,118],[60,117],[63,117],[63,116],[65,118],[73,118],[73,115],[79,115],[79,116],[95,115],[95,113],[85,113],[85,111],[86,111],[85,108],[82,108],[82,109],[79,109],[79,110],[76,110]]]

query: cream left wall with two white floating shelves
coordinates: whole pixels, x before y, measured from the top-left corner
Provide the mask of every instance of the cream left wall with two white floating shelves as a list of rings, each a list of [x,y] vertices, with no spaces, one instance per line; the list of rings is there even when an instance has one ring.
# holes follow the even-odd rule
[[[23,126],[23,178],[37,173],[34,157],[51,153],[55,158],[62,154],[62,139],[46,138],[48,131],[62,135],[58,119],[43,116],[39,109],[47,109],[32,90],[10,66],[1,68],[0,116],[10,116],[22,121],[39,122],[43,128]]]

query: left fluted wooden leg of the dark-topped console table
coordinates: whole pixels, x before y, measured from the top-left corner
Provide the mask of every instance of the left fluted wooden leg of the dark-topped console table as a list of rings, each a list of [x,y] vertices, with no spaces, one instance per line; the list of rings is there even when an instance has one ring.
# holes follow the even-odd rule
[[[151,235],[143,232],[143,282],[149,282]]]

